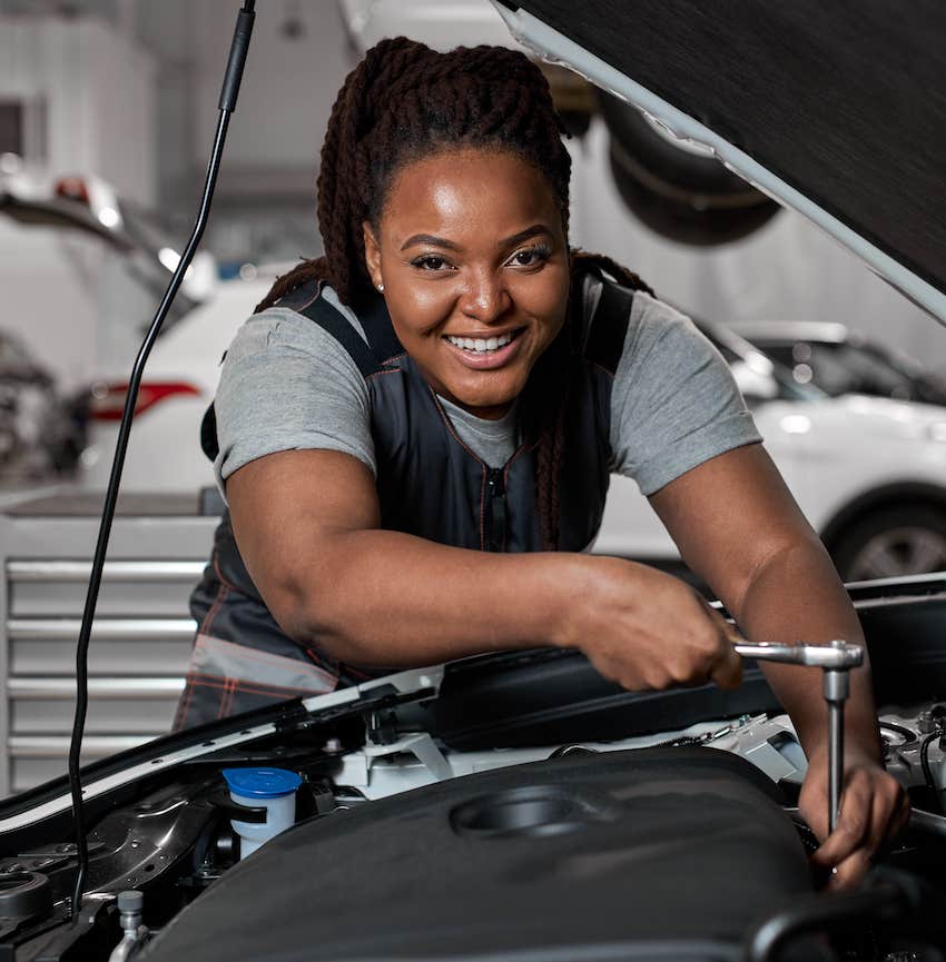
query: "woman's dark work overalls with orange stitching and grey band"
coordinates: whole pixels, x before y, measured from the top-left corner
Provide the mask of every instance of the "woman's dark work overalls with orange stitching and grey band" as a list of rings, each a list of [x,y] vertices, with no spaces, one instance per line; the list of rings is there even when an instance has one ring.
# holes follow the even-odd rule
[[[536,438],[524,430],[521,446],[506,464],[489,467],[454,433],[437,396],[397,340],[383,298],[378,296],[359,314],[368,339],[365,344],[321,296],[322,286],[319,281],[307,284],[276,306],[323,327],[365,378],[382,528],[477,551],[541,551]],[[568,340],[562,345],[568,356],[565,379],[558,385],[568,398],[560,480],[561,551],[584,549],[601,524],[611,463],[611,383],[632,299],[632,291],[593,268],[573,278],[572,288],[573,321],[560,335]],[[201,442],[208,456],[215,457],[213,406],[204,420]],[[317,642],[302,645],[285,635],[246,571],[226,512],[190,609],[198,627],[176,730],[285,698],[324,694],[390,672],[338,663],[322,653]]]

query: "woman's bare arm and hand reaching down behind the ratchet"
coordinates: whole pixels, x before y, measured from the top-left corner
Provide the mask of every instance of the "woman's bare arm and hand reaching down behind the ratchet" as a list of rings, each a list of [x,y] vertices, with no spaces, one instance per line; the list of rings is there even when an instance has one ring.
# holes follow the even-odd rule
[[[864,643],[835,568],[761,445],[737,448],[672,482],[651,499],[690,566],[718,593],[752,641],[844,638]],[[809,762],[802,812],[822,840],[827,820],[827,718],[821,673],[765,663]],[[869,665],[853,674],[846,705],[841,817],[816,856],[853,884],[908,813],[880,766]]]

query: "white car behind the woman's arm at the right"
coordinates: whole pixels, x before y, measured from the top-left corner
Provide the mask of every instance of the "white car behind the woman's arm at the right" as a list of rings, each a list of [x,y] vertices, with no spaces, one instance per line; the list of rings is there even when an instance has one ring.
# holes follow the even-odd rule
[[[946,407],[831,397],[729,328],[701,326],[845,581],[946,568]],[[671,567],[679,558],[637,485],[622,477],[611,480],[595,551]]]

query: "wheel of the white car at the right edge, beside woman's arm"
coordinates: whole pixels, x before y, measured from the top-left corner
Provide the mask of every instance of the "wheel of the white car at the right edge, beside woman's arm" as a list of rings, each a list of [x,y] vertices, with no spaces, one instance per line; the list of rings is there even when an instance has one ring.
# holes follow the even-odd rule
[[[842,534],[832,554],[846,582],[946,571],[946,513],[924,507],[879,512]]]

